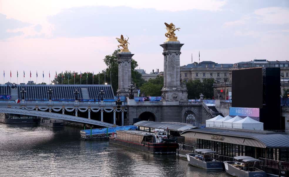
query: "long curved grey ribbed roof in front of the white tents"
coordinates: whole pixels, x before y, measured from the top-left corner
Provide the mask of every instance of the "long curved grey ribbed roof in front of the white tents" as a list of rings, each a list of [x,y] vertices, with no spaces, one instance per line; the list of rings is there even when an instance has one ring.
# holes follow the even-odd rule
[[[289,135],[270,131],[214,127],[185,130],[181,136],[259,148],[289,148]]]

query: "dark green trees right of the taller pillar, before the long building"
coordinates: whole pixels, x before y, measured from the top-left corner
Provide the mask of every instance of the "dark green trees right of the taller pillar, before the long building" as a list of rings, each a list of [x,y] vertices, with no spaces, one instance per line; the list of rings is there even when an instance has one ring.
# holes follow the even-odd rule
[[[203,82],[200,80],[189,80],[186,83],[188,89],[188,99],[199,99],[200,93],[204,95],[205,99],[212,99],[214,96],[213,83],[214,79],[204,79]]]

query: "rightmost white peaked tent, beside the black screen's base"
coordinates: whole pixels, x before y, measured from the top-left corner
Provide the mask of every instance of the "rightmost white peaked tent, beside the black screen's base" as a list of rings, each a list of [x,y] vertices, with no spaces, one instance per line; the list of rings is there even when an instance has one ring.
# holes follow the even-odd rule
[[[256,121],[250,117],[233,122],[233,128],[242,128],[248,130],[263,130],[263,123]]]

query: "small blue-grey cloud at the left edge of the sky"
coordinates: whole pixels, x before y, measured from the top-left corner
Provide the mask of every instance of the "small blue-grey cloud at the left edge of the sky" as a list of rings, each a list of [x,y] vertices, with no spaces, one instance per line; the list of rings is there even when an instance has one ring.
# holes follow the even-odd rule
[[[24,23],[19,20],[7,19],[6,15],[4,14],[0,14],[0,24],[0,39],[7,39],[10,37],[23,35],[24,33],[22,31],[9,32],[9,30],[27,27],[31,25],[29,23]]]

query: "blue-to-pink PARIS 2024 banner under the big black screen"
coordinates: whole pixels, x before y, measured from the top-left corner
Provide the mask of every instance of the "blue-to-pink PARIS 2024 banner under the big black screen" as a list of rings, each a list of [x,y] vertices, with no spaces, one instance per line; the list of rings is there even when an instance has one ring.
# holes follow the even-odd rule
[[[230,107],[230,114],[229,115],[259,117],[260,116],[260,109],[259,108],[250,108],[250,107]]]

